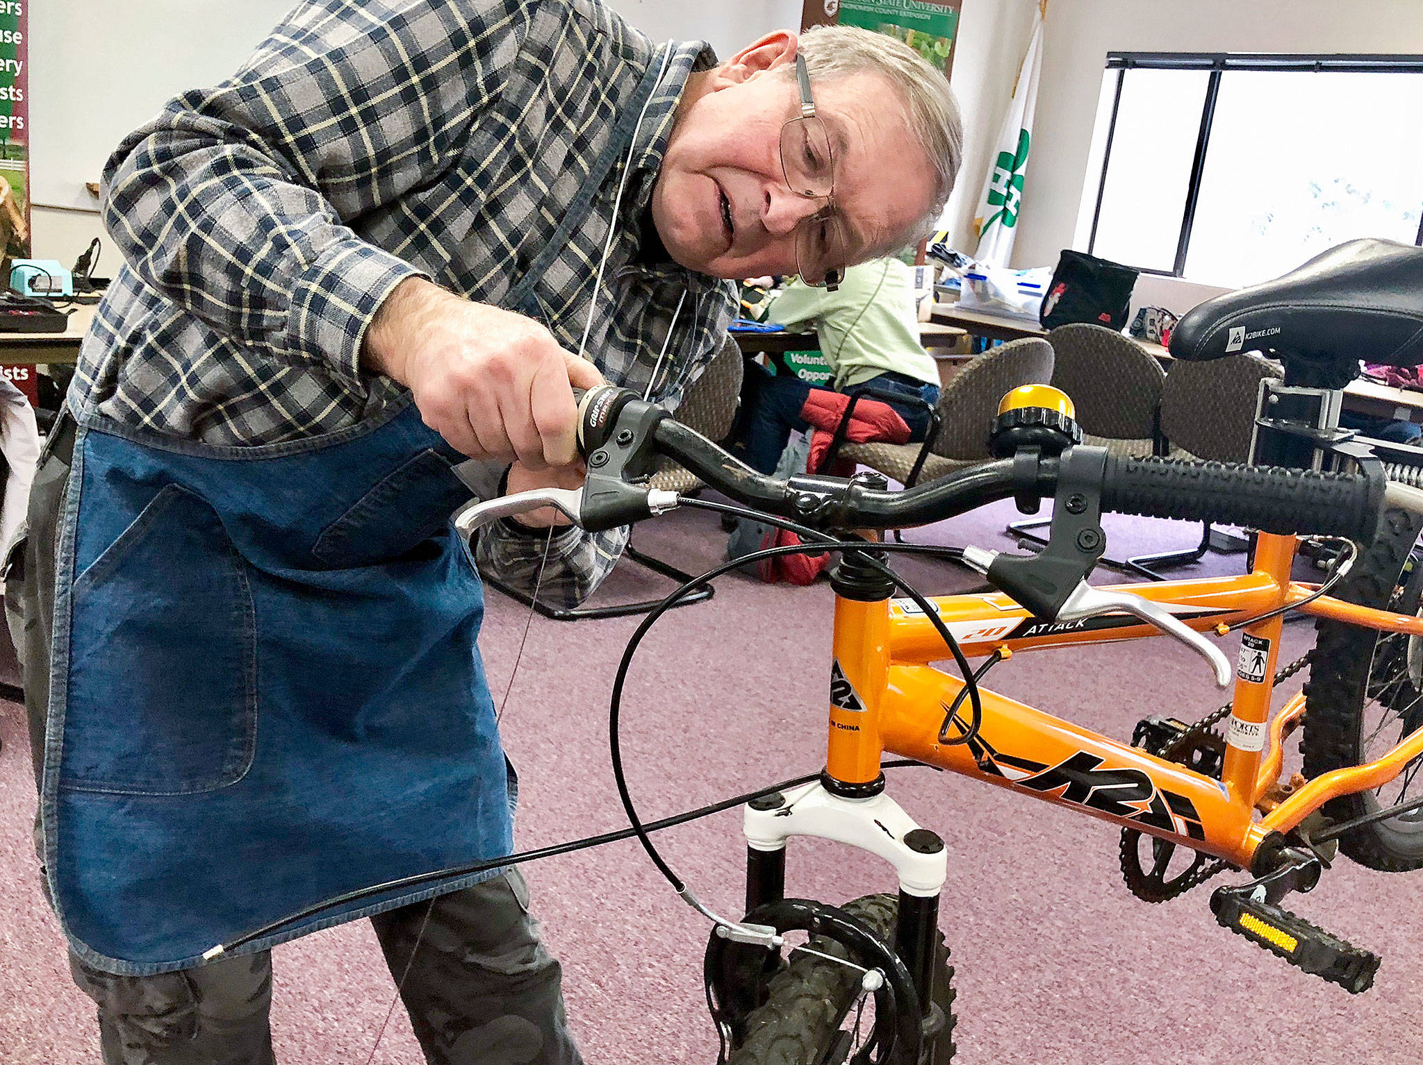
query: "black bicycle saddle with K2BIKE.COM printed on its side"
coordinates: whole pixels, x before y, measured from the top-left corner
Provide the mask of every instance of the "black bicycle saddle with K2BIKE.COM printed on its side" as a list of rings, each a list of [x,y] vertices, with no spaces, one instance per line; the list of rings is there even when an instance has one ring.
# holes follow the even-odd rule
[[[1359,360],[1423,363],[1423,247],[1350,240],[1264,284],[1217,296],[1171,331],[1175,358],[1268,351],[1285,382],[1342,388]]]

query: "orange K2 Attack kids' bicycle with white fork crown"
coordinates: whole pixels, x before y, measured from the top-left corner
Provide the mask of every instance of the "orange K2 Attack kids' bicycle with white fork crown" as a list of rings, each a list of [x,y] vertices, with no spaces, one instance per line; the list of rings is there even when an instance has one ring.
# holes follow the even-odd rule
[[[1224,927],[1349,991],[1372,984],[1376,956],[1281,903],[1312,890],[1336,850],[1373,869],[1423,866],[1423,796],[1409,793],[1423,765],[1423,566],[1410,555],[1423,528],[1423,492],[1387,483],[1370,448],[1338,428],[1339,390],[1358,371],[1353,353],[1423,361],[1419,291],[1423,252],[1353,242],[1183,319],[1171,343],[1177,357],[1214,358],[1268,338],[1285,364],[1285,382],[1261,388],[1247,466],[1120,458],[1076,445],[1070,400],[1032,385],[1003,401],[995,462],[902,492],[864,473],[783,482],[754,473],[657,407],[605,387],[582,400],[589,471],[582,491],[509,496],[457,518],[470,533],[497,516],[552,505],[588,529],[605,529],[686,505],[754,512],[798,532],[811,550],[840,552],[830,579],[825,769],[746,805],[744,917],[713,913],[676,876],[622,776],[622,680],[660,610],[635,634],[615,684],[613,764],[633,830],[714,926],[706,985],[723,1062],[911,1065],[952,1056],[952,970],[938,930],[945,849],[889,796],[884,768],[896,762],[887,755],[1118,823],[1123,873],[1147,901],[1244,870],[1245,883],[1211,896]],[[649,491],[657,455],[751,510]],[[1054,501],[1042,553],[879,543],[844,532],[925,525],[1007,496],[1029,512],[1040,498]],[[1093,587],[1086,577],[1106,547],[1103,510],[1252,528],[1251,572]],[[1296,533],[1332,543],[1322,584],[1291,579]],[[790,550],[797,547],[763,555]],[[926,599],[888,567],[898,550],[949,553],[999,592]],[[683,586],[663,609],[731,564]],[[1286,611],[1318,619],[1318,640],[1282,665]],[[1231,630],[1244,630],[1234,667],[1211,638]],[[1148,718],[1127,744],[980,687],[990,667],[1015,654],[1158,634],[1205,657],[1222,688],[1234,684],[1231,702],[1194,724]],[[933,665],[949,657],[959,675]],[[1311,684],[1271,717],[1275,687],[1305,665]],[[1295,729],[1303,774],[1282,779],[1284,745]],[[896,872],[896,896],[844,907],[788,899],[791,836],[884,857]]]

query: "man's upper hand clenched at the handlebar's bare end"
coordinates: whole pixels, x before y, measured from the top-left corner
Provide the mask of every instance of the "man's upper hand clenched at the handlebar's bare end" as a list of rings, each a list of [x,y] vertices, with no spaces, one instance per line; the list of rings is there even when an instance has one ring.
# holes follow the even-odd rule
[[[592,363],[532,319],[423,277],[407,277],[380,304],[361,363],[410,388],[425,425],[450,446],[518,459],[528,471],[578,458],[573,388],[602,384]]]

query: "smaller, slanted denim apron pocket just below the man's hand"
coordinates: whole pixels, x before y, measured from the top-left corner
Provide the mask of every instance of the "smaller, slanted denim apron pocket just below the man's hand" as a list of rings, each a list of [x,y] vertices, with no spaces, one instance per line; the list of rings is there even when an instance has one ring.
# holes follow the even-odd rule
[[[391,562],[450,523],[470,498],[454,466],[433,448],[387,473],[312,545],[312,555],[334,567]]]

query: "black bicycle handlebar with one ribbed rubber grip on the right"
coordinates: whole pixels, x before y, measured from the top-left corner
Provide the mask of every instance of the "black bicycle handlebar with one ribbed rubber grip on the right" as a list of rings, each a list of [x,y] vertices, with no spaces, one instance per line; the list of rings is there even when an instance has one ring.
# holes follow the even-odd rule
[[[628,469],[640,461],[645,472],[650,472],[655,455],[665,455],[740,503],[818,529],[929,525],[1009,496],[1052,498],[1062,465],[1057,458],[1019,452],[899,492],[820,475],[780,481],[757,473],[625,390],[591,391],[581,412],[579,444],[591,475],[612,452],[618,452],[618,464],[626,461]],[[1222,522],[1282,535],[1348,536],[1368,543],[1377,525],[1385,482],[1365,473],[1104,455],[1096,488],[1104,510]],[[591,529],[647,516],[646,509],[630,516],[620,501],[601,508],[596,496],[585,499],[583,510],[583,525]]]

